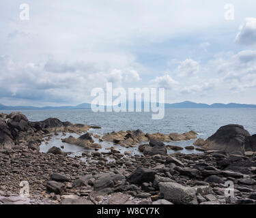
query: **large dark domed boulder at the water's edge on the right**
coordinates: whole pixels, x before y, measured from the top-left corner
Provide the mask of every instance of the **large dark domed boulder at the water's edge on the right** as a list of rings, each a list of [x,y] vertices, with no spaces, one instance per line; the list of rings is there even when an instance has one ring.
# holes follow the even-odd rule
[[[225,125],[205,141],[203,149],[244,153],[246,138],[249,136],[250,134],[242,125]]]

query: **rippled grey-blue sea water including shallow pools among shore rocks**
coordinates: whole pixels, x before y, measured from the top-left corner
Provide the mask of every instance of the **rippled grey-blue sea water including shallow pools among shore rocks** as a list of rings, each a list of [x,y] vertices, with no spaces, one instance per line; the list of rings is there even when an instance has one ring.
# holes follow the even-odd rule
[[[1,112],[10,113],[10,110],[2,110]],[[199,133],[197,138],[206,139],[216,130],[227,124],[243,125],[250,134],[256,134],[256,108],[211,108],[211,109],[167,109],[165,117],[161,120],[153,120],[151,112],[92,112],[91,110],[20,110],[29,119],[29,121],[42,121],[49,117],[55,117],[61,121],[70,121],[72,123],[83,123],[87,125],[98,125],[101,129],[90,129],[93,134],[106,134],[111,131],[120,130],[136,130],[141,129],[145,133],[160,132],[163,134],[184,133],[185,131],[194,130]],[[70,151],[74,154],[81,154],[84,151],[79,146],[74,146],[61,142],[61,138],[67,136],[54,136],[48,145],[42,144],[41,151],[48,151],[51,146],[61,146],[64,144],[64,151]],[[78,137],[76,134],[72,136]],[[96,142],[98,140],[95,139]],[[169,142],[177,146],[192,145],[195,140],[184,142]],[[113,146],[109,142],[100,142],[105,151],[106,148]],[[139,153],[137,148],[124,149],[117,146],[117,149],[124,152],[131,150]],[[172,153],[173,151],[169,151]],[[182,153],[198,153],[199,151],[188,151],[186,149],[180,151]]]

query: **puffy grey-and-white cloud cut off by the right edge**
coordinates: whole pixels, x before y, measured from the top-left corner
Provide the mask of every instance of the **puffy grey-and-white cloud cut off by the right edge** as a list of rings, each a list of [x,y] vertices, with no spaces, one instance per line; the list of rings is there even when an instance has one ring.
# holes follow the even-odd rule
[[[236,42],[251,46],[256,44],[256,18],[246,18],[244,25],[240,27]]]

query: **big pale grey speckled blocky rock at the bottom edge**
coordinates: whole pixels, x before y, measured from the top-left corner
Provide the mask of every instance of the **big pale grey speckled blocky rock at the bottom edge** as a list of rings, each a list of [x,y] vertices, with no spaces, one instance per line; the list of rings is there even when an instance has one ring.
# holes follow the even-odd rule
[[[186,187],[178,183],[159,183],[160,193],[165,200],[174,204],[190,204],[196,198],[197,190],[193,187]]]

